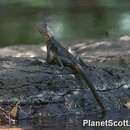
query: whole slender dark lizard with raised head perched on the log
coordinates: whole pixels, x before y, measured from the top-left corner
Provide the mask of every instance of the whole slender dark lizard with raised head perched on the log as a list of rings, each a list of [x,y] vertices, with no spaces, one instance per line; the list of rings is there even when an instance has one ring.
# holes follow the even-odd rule
[[[60,65],[60,68],[63,69],[65,66],[70,67],[74,73],[78,73],[80,77],[85,81],[86,85],[90,88],[94,98],[96,99],[98,105],[101,108],[101,112],[105,113],[106,109],[102,101],[100,100],[99,95],[96,92],[96,89],[93,83],[90,81],[89,77],[85,73],[85,70],[82,67],[82,64],[85,65],[83,60],[79,58],[79,60],[73,56],[68,49],[63,47],[61,43],[59,43],[52,33],[48,31],[47,23],[40,23],[37,25],[38,31],[44,37],[45,43],[47,46],[47,63],[56,63]],[[82,63],[82,64],[81,64]]]

